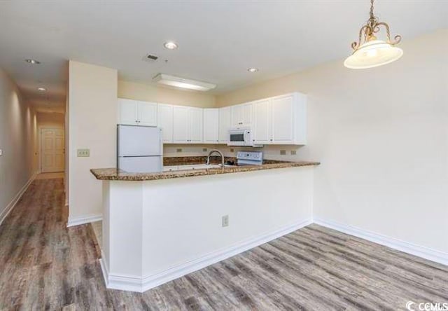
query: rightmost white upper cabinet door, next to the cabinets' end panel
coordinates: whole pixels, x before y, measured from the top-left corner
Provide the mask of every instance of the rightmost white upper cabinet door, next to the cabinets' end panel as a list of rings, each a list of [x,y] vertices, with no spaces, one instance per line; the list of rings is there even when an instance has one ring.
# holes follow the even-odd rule
[[[272,139],[274,143],[293,144],[294,115],[293,95],[272,99]]]

